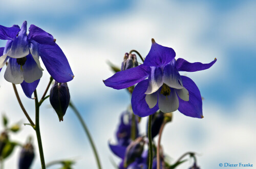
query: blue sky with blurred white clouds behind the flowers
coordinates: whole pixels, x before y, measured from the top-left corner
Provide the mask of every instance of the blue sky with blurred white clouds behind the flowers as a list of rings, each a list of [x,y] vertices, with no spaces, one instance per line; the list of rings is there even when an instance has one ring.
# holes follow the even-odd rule
[[[125,90],[113,90],[102,79],[113,73],[106,64],[121,65],[131,49],[143,57],[151,38],[172,47],[177,58],[189,62],[217,63],[209,70],[186,73],[201,91],[204,119],[174,112],[173,123],[163,133],[164,152],[175,161],[186,151],[199,153],[201,168],[218,168],[219,163],[253,163],[256,166],[256,2],[255,1],[1,1],[0,24],[21,25],[24,20],[51,33],[66,54],[74,80],[69,82],[71,99],[80,110],[95,141],[103,168],[113,168],[108,140],[115,143],[114,132],[120,113],[130,103]],[[5,41],[0,42],[1,46]],[[45,69],[46,70],[46,69]],[[10,123],[27,120],[15,98],[12,85],[0,73],[0,113]],[[184,75],[184,74],[182,74]],[[38,86],[39,97],[49,81],[44,75]],[[34,119],[34,100],[19,95]],[[146,119],[140,125],[145,133]],[[1,127],[0,129],[3,129]],[[75,168],[96,168],[92,149],[81,125],[68,109],[59,123],[49,101],[40,109],[40,129],[45,160],[75,159]],[[25,143],[36,135],[23,126],[11,138]],[[5,161],[5,168],[16,168],[20,149]],[[193,161],[179,168],[188,168]],[[57,168],[55,165],[51,168]],[[32,168],[39,168],[39,153]]]

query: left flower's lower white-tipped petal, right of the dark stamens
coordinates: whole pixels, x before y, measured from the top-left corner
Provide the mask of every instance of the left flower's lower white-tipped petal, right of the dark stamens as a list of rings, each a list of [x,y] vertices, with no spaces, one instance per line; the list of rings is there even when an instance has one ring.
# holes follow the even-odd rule
[[[23,78],[27,83],[31,83],[42,77],[42,71],[38,68],[31,54],[27,55],[27,61],[22,68]]]

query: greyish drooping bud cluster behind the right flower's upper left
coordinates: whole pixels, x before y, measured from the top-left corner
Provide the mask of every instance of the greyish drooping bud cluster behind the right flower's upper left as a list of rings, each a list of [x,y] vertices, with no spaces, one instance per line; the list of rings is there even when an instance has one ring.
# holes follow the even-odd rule
[[[125,53],[123,57],[123,62],[121,65],[121,71],[134,68],[136,66],[139,66],[136,55]]]

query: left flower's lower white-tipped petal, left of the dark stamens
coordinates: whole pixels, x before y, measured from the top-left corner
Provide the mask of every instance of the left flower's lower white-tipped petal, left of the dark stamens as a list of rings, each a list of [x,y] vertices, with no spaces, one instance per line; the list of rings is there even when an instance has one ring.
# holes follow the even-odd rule
[[[7,81],[14,84],[23,82],[22,71],[20,70],[20,65],[17,64],[16,59],[10,58],[4,76]]]

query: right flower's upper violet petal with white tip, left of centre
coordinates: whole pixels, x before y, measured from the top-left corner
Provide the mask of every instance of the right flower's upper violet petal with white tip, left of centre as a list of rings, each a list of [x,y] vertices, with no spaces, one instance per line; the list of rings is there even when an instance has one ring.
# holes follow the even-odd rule
[[[151,67],[151,74],[148,77],[148,88],[145,94],[155,93],[163,85],[163,72],[160,67]]]

